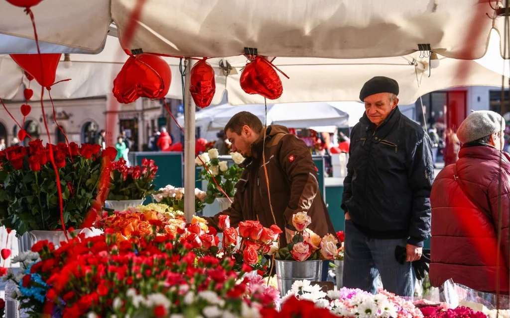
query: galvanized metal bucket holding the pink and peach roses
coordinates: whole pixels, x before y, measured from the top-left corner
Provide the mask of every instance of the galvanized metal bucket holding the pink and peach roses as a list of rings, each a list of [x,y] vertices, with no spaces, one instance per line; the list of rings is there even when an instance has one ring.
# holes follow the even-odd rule
[[[297,280],[321,281],[322,260],[317,261],[282,261],[275,259],[276,279],[280,296],[284,297],[292,290],[292,284]]]

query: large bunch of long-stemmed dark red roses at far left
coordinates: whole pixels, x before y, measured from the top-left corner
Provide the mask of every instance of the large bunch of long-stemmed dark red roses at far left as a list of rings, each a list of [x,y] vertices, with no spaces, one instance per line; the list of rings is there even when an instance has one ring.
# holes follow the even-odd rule
[[[57,178],[50,162],[53,155],[65,226],[79,228],[99,188],[104,186],[101,166],[116,154],[111,147],[101,151],[98,144],[78,147],[71,142],[69,146],[59,143],[44,147],[40,139],[29,142],[29,147],[15,146],[0,152],[0,225],[15,229],[18,235],[30,230],[61,229]]]

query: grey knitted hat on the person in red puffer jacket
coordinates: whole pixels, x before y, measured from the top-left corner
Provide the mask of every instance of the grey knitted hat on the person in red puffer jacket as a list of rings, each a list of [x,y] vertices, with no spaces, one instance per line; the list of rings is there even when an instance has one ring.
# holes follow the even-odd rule
[[[505,130],[505,120],[491,110],[473,111],[458,127],[457,137],[462,143],[468,143],[493,133]]]

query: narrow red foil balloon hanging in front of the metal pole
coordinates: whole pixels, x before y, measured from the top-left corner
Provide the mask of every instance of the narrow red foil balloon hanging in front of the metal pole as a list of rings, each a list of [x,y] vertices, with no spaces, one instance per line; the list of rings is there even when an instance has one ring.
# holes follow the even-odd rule
[[[214,70],[206,60],[198,61],[191,69],[190,93],[200,108],[211,105],[216,92]]]

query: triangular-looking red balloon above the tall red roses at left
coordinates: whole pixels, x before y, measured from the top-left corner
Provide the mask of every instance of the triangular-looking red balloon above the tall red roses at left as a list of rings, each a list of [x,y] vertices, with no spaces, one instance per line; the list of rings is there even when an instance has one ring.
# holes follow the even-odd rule
[[[61,55],[61,53],[41,54],[44,82],[42,81],[41,63],[38,54],[11,54],[11,57],[19,67],[32,75],[41,86],[49,87],[55,83],[57,66],[59,65]]]

